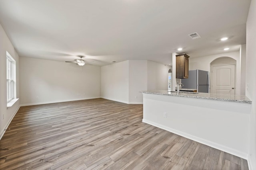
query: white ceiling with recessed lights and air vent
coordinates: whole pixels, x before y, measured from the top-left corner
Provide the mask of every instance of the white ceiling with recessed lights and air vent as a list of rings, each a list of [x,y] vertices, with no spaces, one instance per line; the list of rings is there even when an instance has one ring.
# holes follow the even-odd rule
[[[225,53],[224,47],[238,51],[246,43],[250,1],[0,0],[0,23],[21,57],[172,64],[173,52],[202,57]],[[192,40],[194,32],[201,38]]]

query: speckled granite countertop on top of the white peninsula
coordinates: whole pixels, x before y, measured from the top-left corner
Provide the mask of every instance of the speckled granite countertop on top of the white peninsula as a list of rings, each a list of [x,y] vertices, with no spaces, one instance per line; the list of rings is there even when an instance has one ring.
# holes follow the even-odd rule
[[[229,102],[240,102],[251,104],[252,101],[246,96],[230,96],[227,94],[215,94],[215,93],[192,93],[192,92],[167,92],[167,90],[151,90],[151,91],[141,91],[141,93],[146,94],[159,94],[166,96],[178,96],[185,98],[198,98],[198,99],[209,99],[209,100],[219,100],[219,101],[229,101]]]

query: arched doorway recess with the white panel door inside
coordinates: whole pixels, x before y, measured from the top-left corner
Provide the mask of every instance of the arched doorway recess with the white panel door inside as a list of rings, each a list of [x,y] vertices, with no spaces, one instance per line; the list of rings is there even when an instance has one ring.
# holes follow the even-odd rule
[[[236,60],[220,57],[210,63],[211,93],[236,94]]]

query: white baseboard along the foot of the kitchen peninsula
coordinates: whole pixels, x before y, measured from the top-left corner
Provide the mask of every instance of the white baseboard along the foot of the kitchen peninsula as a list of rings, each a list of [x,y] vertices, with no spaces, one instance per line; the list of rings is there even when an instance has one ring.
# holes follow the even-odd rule
[[[226,147],[224,145],[220,145],[218,143],[214,143],[212,141],[208,141],[208,140],[205,140],[205,139],[202,139],[202,138],[199,138],[199,137],[196,137],[196,136],[193,136],[193,135],[190,135],[188,133],[184,133],[182,131],[178,131],[176,129],[172,129],[170,127],[166,127],[166,126],[163,126],[163,125],[160,125],[158,123],[154,123],[152,121],[148,121],[146,119],[142,119],[142,122],[144,123],[148,123],[150,125],[153,125],[155,127],[159,127],[161,129],[164,129],[166,131],[169,131],[169,132],[172,132],[172,133],[175,133],[177,135],[180,135],[182,137],[186,137],[188,139],[191,139],[193,141],[196,141],[196,142],[199,142],[199,143],[202,143],[204,145],[207,145],[209,147],[212,147],[212,148],[215,148],[215,149],[218,149],[218,150],[222,150],[224,152],[227,152],[227,153],[230,153],[230,154],[233,154],[235,156],[238,156],[240,158],[244,158],[246,160],[248,160],[248,154],[244,153],[244,152],[240,152],[239,150],[236,150],[236,149],[232,149],[230,147]],[[248,161],[249,162],[249,161]]]

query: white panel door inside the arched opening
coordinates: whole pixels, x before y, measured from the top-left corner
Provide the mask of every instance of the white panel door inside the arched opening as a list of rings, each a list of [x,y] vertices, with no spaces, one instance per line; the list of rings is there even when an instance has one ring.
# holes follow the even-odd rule
[[[235,95],[236,66],[212,66],[212,93]]]

